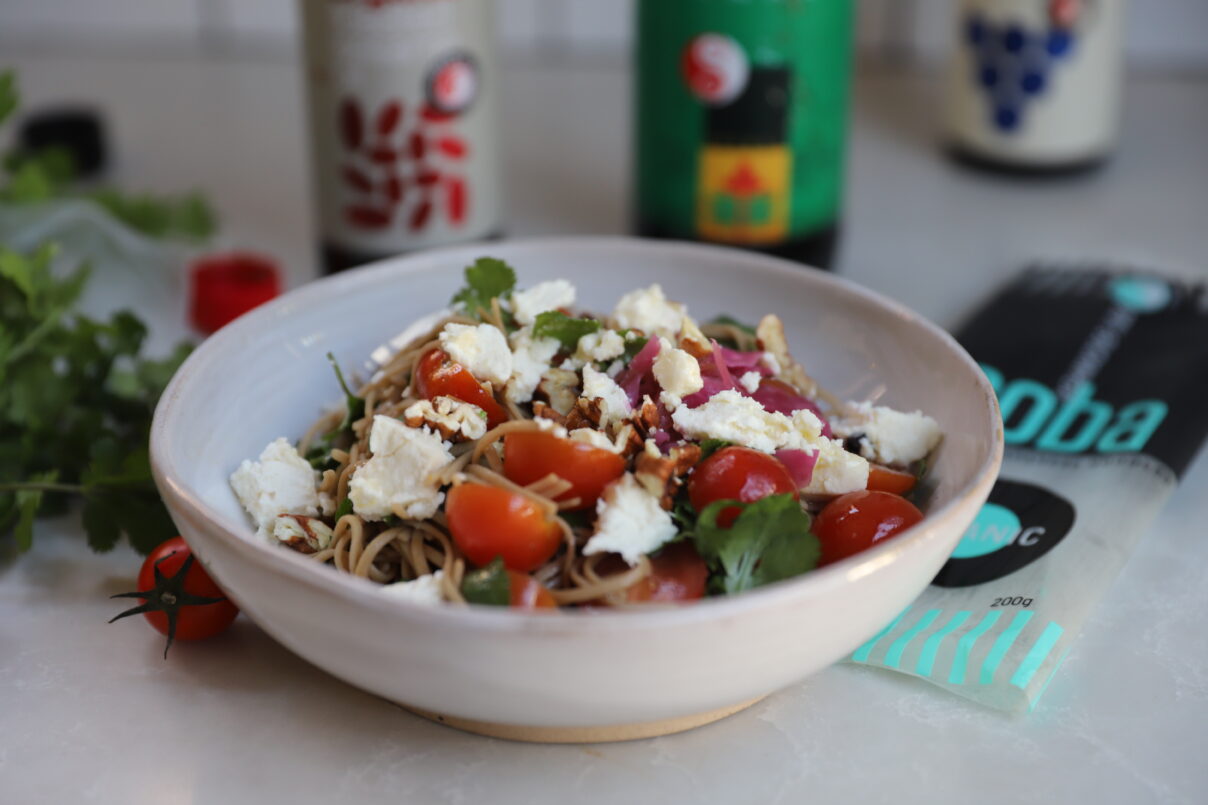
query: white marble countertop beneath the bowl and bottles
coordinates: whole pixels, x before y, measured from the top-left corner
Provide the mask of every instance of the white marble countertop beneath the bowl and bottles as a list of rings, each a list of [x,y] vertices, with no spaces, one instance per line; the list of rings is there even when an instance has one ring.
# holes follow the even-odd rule
[[[223,243],[313,273],[297,76],[284,63],[14,59],[30,104],[110,115],[120,180],[201,187]],[[512,234],[622,232],[628,80],[516,68]],[[987,178],[937,155],[935,85],[865,76],[840,271],[945,325],[1032,257],[1208,276],[1208,80],[1136,80],[1119,156],[1090,176]],[[1087,622],[1036,711],[829,668],[732,718],[618,745],[532,746],[422,720],[292,656],[245,618],[178,644],[106,626],[138,558],[40,522],[0,557],[0,800],[968,803],[1208,800],[1208,457]]]

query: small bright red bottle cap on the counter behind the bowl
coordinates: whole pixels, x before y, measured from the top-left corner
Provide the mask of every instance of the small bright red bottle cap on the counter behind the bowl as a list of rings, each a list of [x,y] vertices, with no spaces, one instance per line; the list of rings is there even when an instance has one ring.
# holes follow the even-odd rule
[[[205,335],[281,293],[277,263],[250,251],[199,257],[188,280],[188,323]]]

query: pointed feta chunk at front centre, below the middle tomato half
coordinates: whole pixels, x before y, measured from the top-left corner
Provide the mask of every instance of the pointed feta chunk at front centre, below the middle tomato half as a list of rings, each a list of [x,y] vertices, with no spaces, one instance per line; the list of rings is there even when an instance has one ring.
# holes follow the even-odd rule
[[[614,481],[596,503],[596,533],[583,554],[620,554],[631,566],[675,538],[679,529],[632,473]]]

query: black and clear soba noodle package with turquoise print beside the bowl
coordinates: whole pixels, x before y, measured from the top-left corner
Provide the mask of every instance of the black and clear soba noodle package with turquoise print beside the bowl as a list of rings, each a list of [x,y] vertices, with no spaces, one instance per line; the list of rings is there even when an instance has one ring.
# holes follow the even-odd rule
[[[1208,291],[1041,266],[959,340],[998,393],[1001,475],[931,586],[850,660],[1022,712],[1208,433]]]

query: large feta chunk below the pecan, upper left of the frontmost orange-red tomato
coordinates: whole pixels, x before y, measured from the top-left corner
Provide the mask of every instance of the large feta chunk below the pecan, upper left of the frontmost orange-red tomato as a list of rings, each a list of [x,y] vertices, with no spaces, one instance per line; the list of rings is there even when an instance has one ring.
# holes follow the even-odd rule
[[[451,445],[428,428],[408,428],[390,417],[373,417],[368,462],[348,485],[353,511],[366,520],[382,520],[399,506],[408,517],[436,514],[445,493],[437,470],[453,461]]]

